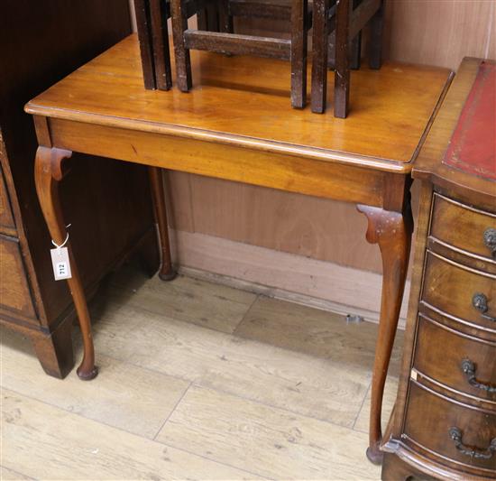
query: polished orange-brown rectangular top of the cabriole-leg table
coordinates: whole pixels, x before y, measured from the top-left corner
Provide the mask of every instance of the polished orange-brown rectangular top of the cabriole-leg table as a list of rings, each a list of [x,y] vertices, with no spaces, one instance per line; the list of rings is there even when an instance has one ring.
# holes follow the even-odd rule
[[[351,75],[350,115],[338,119],[331,108],[324,115],[291,108],[289,62],[191,54],[190,92],[145,90],[133,34],[35,97],[26,112],[409,171],[450,79],[448,69],[363,66]],[[332,71],[328,84],[332,105]]]

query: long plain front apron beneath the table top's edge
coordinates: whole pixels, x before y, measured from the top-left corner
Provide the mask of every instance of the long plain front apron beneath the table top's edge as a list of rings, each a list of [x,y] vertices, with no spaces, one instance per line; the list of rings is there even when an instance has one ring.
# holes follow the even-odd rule
[[[390,210],[398,210],[387,205],[390,186],[409,177],[174,135],[58,118],[48,122],[51,146],[60,149]]]

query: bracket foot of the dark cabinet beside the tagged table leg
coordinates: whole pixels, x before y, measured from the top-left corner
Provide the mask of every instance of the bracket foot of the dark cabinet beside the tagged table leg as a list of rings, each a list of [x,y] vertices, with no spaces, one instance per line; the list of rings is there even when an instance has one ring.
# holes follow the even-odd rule
[[[63,379],[74,367],[72,319],[65,319],[51,335],[36,334],[32,347],[47,375]]]

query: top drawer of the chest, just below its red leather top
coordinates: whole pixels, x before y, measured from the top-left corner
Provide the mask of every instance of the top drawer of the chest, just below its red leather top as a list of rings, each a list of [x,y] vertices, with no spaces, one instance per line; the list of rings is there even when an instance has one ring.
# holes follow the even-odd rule
[[[496,261],[495,214],[435,194],[430,236],[468,254]]]

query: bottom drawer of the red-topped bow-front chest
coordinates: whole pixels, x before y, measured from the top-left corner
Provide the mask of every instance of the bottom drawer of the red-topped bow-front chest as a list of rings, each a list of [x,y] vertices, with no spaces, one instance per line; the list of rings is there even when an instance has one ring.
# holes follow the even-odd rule
[[[493,442],[496,449],[496,413],[451,402],[410,382],[403,439],[443,464],[447,458],[468,471],[480,468],[494,476],[496,451],[490,446]],[[471,450],[479,454],[471,456]]]

